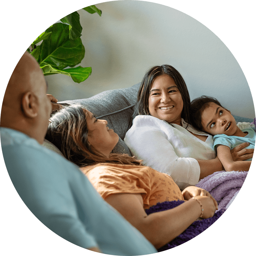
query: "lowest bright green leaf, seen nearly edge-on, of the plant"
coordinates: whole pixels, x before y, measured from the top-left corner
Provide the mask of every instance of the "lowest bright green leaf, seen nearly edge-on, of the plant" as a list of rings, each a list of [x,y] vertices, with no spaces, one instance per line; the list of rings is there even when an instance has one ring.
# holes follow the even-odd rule
[[[51,65],[45,65],[41,68],[45,76],[52,75],[52,74],[64,74],[64,75],[70,76],[73,79],[73,81],[76,83],[83,82],[92,73],[91,67],[83,68],[81,66],[76,68],[66,68],[63,70],[53,68]]]

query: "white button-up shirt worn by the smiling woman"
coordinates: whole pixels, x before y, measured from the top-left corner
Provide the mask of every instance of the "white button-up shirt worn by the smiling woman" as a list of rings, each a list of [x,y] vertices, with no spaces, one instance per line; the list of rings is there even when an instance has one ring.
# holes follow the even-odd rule
[[[211,135],[197,131],[183,119],[181,124],[169,124],[154,116],[136,116],[124,142],[132,155],[144,160],[144,165],[169,174],[184,189],[199,181],[200,166],[196,159],[209,160],[216,154]],[[206,135],[206,141],[189,131]]]

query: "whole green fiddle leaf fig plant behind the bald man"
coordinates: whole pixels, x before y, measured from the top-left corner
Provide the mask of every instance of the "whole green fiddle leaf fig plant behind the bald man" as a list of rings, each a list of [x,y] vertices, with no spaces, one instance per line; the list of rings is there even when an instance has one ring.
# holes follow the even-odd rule
[[[83,8],[89,13],[101,11],[94,5]],[[78,12],[72,12],[47,28],[31,44],[28,52],[38,61],[45,76],[64,74],[70,76],[76,83],[86,80],[92,73],[92,68],[75,67],[84,59],[84,45],[80,36],[82,26]],[[37,45],[43,41],[41,44]],[[70,68],[67,68],[70,67]]]

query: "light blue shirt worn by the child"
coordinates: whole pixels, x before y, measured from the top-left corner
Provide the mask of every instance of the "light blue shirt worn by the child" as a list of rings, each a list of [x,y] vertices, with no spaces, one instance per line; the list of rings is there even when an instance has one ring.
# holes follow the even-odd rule
[[[213,147],[216,151],[216,145],[224,145],[228,146],[230,149],[235,148],[237,145],[243,143],[243,142],[249,142],[250,145],[248,145],[246,148],[255,148],[255,128],[254,127],[248,127],[245,129],[242,129],[243,132],[248,132],[248,134],[245,137],[239,137],[239,136],[228,136],[225,134],[217,134],[213,136]],[[217,151],[216,151],[217,152]],[[247,159],[246,161],[251,161],[252,158]]]

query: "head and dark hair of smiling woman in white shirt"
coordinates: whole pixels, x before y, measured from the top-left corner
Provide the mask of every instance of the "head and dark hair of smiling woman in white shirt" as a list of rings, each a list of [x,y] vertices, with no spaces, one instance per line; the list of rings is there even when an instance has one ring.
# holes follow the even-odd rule
[[[171,94],[173,100],[176,101],[175,104],[170,99]],[[178,118],[179,122],[180,118],[183,118],[186,122],[189,122],[189,104],[190,98],[187,85],[180,73],[170,65],[156,66],[150,68],[142,79],[133,118],[138,115],[151,115],[164,121],[170,119],[169,121],[171,122],[172,118]],[[175,106],[175,111],[172,112],[176,112],[176,118],[173,114],[168,116],[167,111],[166,115],[164,114],[165,112],[160,111],[163,110],[160,109],[161,107],[172,106]],[[180,109],[180,113],[178,113],[177,108]],[[163,114],[163,119],[161,114]]]

